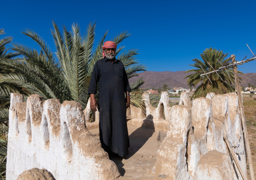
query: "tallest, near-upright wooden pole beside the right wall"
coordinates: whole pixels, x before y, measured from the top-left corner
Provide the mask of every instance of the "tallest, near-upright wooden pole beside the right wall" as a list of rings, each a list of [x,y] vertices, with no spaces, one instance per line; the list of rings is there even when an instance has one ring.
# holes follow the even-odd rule
[[[232,57],[232,63],[235,62],[235,55],[231,55]],[[233,66],[233,70],[234,70],[234,75],[235,75],[235,88],[236,88],[236,94],[238,96],[238,108],[239,108],[239,114],[240,114],[240,118],[241,118],[241,125],[242,125],[242,130],[243,130],[243,137],[244,137],[244,145],[245,145],[245,150],[246,150],[246,154],[248,157],[248,165],[249,165],[249,172],[250,172],[250,177],[251,180],[255,180],[255,176],[254,176],[254,170],[253,170],[253,164],[252,164],[252,158],[251,158],[251,152],[250,152],[250,144],[249,144],[249,139],[248,139],[248,135],[247,135],[247,128],[245,126],[245,115],[244,115],[244,111],[243,111],[243,103],[242,103],[242,95],[241,95],[241,87],[240,87],[240,83],[239,83],[239,79],[238,79],[238,73],[237,73],[237,66]]]

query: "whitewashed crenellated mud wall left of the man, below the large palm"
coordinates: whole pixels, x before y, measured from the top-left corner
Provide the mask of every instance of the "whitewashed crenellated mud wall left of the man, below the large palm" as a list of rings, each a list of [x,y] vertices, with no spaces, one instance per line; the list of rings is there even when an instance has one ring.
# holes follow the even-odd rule
[[[75,101],[44,101],[32,95],[11,95],[7,179],[37,167],[55,179],[114,179],[115,163],[87,130],[82,106]]]

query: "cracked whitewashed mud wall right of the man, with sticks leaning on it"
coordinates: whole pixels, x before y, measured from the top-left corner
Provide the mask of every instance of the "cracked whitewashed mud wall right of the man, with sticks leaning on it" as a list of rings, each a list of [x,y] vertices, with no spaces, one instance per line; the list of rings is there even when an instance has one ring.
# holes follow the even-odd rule
[[[192,106],[185,94],[182,98],[180,105],[170,108],[169,128],[158,150],[156,173],[167,179],[242,179],[224,141],[228,140],[245,176],[237,95],[211,93],[207,98],[194,99]]]

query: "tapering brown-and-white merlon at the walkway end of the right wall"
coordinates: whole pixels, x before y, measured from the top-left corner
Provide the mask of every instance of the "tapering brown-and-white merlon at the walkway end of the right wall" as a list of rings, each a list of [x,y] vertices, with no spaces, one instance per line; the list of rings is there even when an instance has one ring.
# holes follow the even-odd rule
[[[191,129],[191,109],[175,105],[170,114],[169,129],[157,154],[156,172],[165,174],[168,179],[189,179],[185,154],[187,134]]]

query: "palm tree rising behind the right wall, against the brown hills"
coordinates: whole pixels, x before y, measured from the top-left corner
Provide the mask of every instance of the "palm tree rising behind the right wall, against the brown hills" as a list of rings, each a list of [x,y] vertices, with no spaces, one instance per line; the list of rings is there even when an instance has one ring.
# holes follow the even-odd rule
[[[185,73],[194,73],[186,76],[185,78],[188,78],[187,84],[190,88],[196,87],[197,85],[199,86],[194,92],[191,99],[206,97],[209,92],[214,92],[215,94],[225,94],[234,91],[234,87],[231,86],[231,84],[235,83],[235,77],[232,69],[227,69],[227,71],[219,71],[219,75],[217,73],[208,74],[207,76],[209,77],[209,79],[207,78],[207,76],[200,76],[201,74],[204,74],[204,71],[207,73],[214,71],[214,69],[217,70],[222,66],[222,64],[227,63],[230,60],[230,58],[225,59],[227,55],[228,54],[224,54],[220,50],[217,51],[216,49],[209,48],[204,50],[203,53],[201,53],[200,55],[203,61],[200,61],[199,59],[192,60],[196,63],[190,66],[193,66],[197,69],[191,69],[186,71]],[[238,73],[243,74],[242,72]]]

